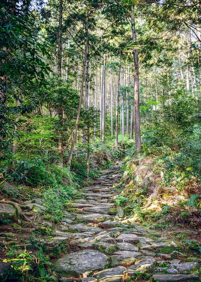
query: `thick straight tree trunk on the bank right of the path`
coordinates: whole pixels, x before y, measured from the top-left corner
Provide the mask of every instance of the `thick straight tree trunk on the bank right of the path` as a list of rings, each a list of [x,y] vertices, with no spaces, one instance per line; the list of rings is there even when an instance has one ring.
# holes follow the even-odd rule
[[[133,41],[137,40],[134,22],[134,6],[131,7],[131,23]],[[134,54],[134,128],[135,128],[135,151],[141,150],[141,135],[140,135],[140,105],[139,105],[139,67],[138,67],[138,52],[133,50]]]

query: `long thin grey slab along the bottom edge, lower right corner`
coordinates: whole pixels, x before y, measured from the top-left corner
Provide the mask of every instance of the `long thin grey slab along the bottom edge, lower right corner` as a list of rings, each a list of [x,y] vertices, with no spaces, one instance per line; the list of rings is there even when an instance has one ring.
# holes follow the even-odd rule
[[[197,274],[154,274],[152,280],[159,282],[199,281],[199,276]]]

